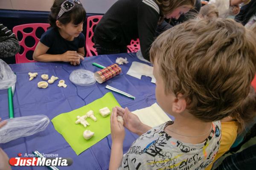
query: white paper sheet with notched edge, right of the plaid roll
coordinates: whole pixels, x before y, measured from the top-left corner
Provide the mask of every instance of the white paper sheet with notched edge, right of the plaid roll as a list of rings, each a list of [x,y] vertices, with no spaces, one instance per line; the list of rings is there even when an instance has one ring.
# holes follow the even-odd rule
[[[152,83],[156,83],[156,79],[153,76],[153,67],[140,62],[132,62],[131,67],[126,74],[136,77],[137,79],[141,79],[142,75],[148,76],[151,77]]]

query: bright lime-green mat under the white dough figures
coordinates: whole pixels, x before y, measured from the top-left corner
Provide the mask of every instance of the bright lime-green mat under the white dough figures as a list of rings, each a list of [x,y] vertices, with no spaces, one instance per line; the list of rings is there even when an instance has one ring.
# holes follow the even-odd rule
[[[76,154],[79,155],[84,150],[87,150],[89,147],[93,146],[93,144],[96,144],[110,134],[110,115],[102,117],[99,114],[99,109],[108,107],[112,113],[112,108],[115,106],[120,105],[113,94],[109,92],[102,98],[97,99],[88,105],[68,113],[59,114],[52,119],[52,124],[54,125],[55,130],[57,130],[58,133],[61,133],[67,143],[69,143]],[[87,118],[86,120],[90,126],[84,127],[81,124],[76,125],[76,116],[83,116],[90,110],[93,110],[97,121],[93,122],[92,119]],[[89,140],[85,140],[83,137],[84,130],[94,132],[94,136]]]

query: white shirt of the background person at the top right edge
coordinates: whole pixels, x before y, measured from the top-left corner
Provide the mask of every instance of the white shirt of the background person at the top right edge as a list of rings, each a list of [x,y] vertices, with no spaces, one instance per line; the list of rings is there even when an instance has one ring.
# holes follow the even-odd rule
[[[230,15],[230,0],[209,0],[208,4],[215,4],[220,18],[227,18]]]

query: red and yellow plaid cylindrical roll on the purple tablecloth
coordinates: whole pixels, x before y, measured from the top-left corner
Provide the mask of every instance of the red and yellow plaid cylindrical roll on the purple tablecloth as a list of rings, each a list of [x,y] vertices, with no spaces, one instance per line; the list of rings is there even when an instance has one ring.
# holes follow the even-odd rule
[[[117,64],[113,64],[95,72],[94,77],[97,82],[102,83],[121,73],[121,71],[122,69]]]

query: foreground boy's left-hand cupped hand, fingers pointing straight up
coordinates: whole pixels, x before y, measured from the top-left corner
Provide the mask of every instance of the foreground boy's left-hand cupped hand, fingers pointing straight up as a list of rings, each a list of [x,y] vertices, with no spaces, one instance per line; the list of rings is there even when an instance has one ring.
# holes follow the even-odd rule
[[[111,138],[112,143],[122,143],[125,139],[125,128],[120,122],[117,122],[117,109],[112,109],[112,114],[110,117],[110,123],[111,123]]]

